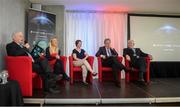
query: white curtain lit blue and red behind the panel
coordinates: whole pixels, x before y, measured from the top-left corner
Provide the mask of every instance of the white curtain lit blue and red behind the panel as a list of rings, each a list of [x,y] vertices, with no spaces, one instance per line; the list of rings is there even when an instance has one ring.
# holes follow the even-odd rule
[[[82,48],[95,56],[104,39],[111,39],[111,46],[122,55],[126,46],[127,14],[108,12],[66,12],[65,15],[65,54],[72,54],[75,41],[82,40]],[[95,62],[97,69],[97,62]]]

